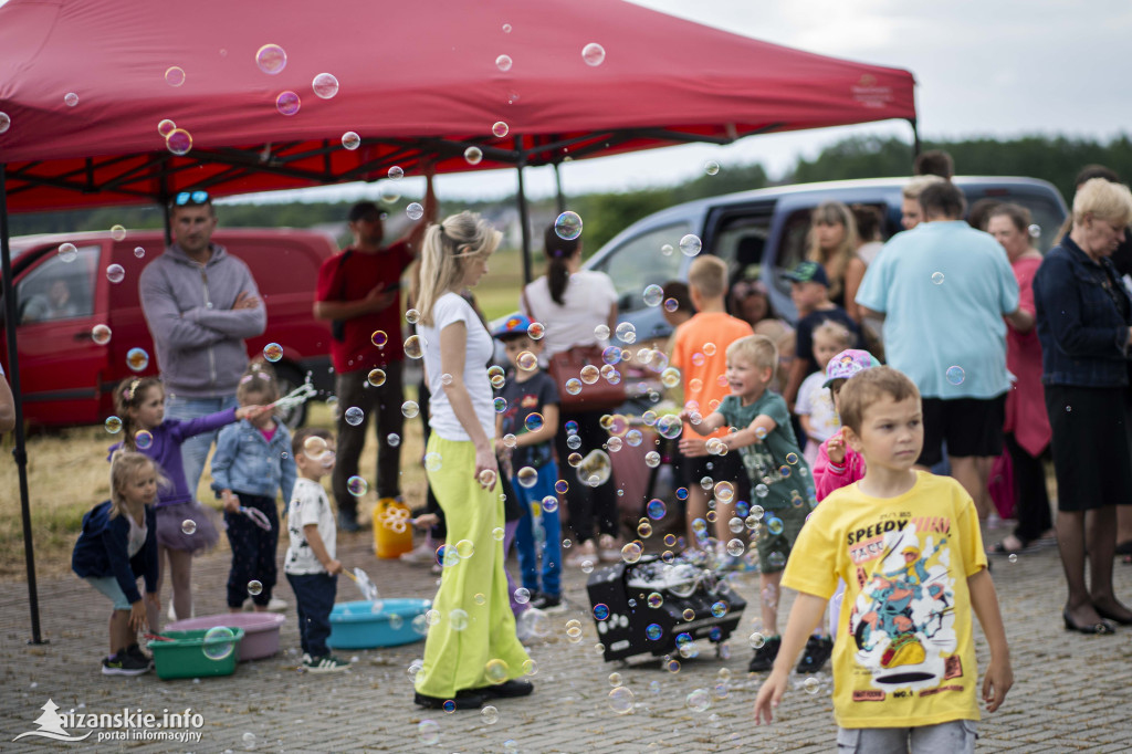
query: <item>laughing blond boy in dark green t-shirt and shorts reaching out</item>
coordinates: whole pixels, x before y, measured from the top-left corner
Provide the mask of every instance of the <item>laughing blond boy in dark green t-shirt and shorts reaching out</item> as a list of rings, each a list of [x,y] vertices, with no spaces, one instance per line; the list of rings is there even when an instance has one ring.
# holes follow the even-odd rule
[[[698,435],[724,430],[720,442],[727,451],[738,451],[754,490],[751,502],[764,511],[752,535],[758,552],[766,639],[755,649],[749,666],[753,672],[769,670],[778,654],[779,581],[806,515],[814,506],[809,466],[798,448],[786,401],[766,389],[777,367],[778,346],[765,335],[748,335],[731,343],[727,349],[730,394],[715,411],[692,423]]]

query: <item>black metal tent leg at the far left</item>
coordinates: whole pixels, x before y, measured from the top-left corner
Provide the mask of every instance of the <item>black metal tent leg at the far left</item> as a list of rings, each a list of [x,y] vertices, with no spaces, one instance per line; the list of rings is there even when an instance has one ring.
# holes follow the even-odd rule
[[[16,471],[19,474],[19,513],[24,525],[24,560],[27,567],[27,601],[32,609],[31,644],[45,644],[40,635],[40,594],[35,584],[35,551],[32,545],[32,508],[27,490],[27,447],[24,437],[24,399],[19,386],[19,351],[16,348],[16,290],[11,279],[11,249],[8,243],[7,165],[0,163],[0,273],[3,283],[3,323],[8,340],[8,379],[16,399]]]

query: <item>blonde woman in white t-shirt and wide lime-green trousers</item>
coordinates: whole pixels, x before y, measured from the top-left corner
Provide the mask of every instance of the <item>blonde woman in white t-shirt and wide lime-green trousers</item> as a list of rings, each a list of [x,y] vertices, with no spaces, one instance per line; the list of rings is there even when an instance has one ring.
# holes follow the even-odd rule
[[[414,701],[424,708],[452,701],[456,709],[479,709],[489,697],[524,696],[533,688],[520,679],[528,656],[515,635],[503,537],[494,537],[504,525],[487,371],[494,343],[460,294],[487,274],[499,238],[479,215],[462,212],[430,225],[421,250],[418,334],[432,393],[424,468],[453,548],[445,550],[432,602],[440,622],[429,628],[417,674]],[[477,602],[479,594],[487,599]]]

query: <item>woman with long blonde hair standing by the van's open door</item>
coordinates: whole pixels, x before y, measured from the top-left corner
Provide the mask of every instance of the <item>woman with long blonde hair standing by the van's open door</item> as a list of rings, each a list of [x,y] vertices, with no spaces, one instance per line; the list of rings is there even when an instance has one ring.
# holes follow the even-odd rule
[[[830,279],[830,301],[843,308],[854,322],[860,322],[855,301],[865,263],[857,256],[857,221],[840,202],[823,202],[814,209],[806,259],[825,267]]]

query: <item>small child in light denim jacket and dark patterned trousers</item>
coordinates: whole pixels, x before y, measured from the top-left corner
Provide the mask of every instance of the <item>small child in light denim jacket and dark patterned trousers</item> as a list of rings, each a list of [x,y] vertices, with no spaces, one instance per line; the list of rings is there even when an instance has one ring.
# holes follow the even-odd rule
[[[235,400],[241,406],[273,404],[278,397],[275,372],[256,361],[240,377]],[[275,552],[280,542],[280,519],[275,494],[290,502],[297,477],[291,456],[291,434],[275,421],[271,410],[228,425],[216,438],[212,461],[212,488],[224,503],[224,523],[232,546],[228,574],[228,608],[243,609],[251,597],[257,611],[272,603],[278,576]],[[258,514],[258,515],[257,515]],[[275,609],[286,608],[275,600]]]

